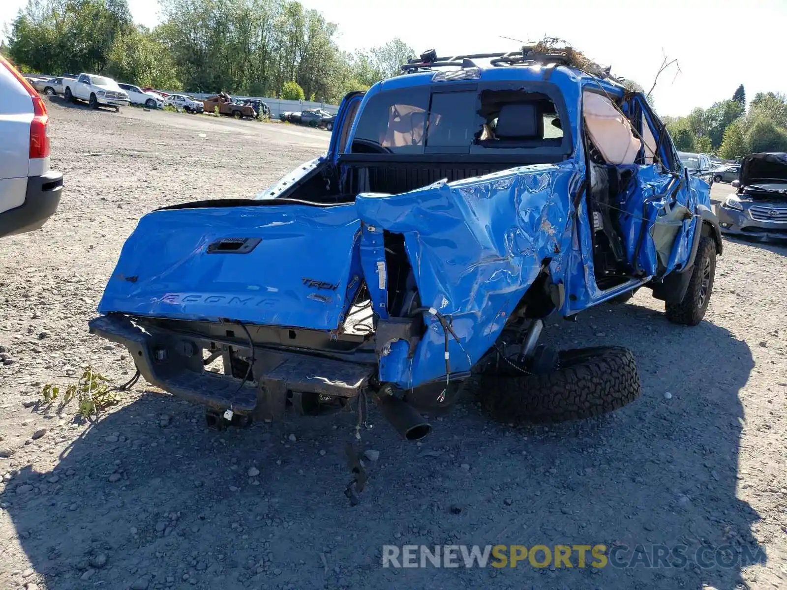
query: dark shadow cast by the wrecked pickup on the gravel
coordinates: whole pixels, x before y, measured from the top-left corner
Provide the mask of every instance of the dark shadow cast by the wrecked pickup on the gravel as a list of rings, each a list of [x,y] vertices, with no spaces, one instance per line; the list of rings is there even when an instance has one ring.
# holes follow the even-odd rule
[[[464,400],[421,446],[372,412],[361,446],[379,459],[356,507],[343,494],[355,415],[215,432],[199,408],[156,393],[106,415],[51,472],[22,469],[0,501],[39,584],[59,590],[745,587],[741,568],[767,561],[759,516],[736,494],[752,354],[639,297],[547,331],[562,348],[632,348],[641,399],[522,429]],[[572,549],[571,568],[396,570],[381,566],[384,544],[604,544],[610,559],[594,568],[588,552],[581,566]]]

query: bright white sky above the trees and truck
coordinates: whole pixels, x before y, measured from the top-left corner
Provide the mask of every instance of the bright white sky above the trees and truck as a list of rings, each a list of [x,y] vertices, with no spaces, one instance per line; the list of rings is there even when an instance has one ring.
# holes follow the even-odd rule
[[[0,23],[26,0],[0,0]],[[345,50],[382,45],[399,37],[418,52],[480,53],[516,49],[545,34],[567,39],[612,72],[645,90],[663,59],[682,70],[665,72],[653,95],[662,115],[685,115],[696,106],[732,98],[739,84],[757,92],[787,93],[783,69],[787,0],[301,0],[338,24]],[[157,0],[128,0],[137,22],[158,22]]]

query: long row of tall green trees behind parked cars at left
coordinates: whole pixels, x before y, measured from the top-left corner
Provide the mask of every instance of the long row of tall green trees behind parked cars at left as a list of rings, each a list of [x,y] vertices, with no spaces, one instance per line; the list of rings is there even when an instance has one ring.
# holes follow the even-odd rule
[[[338,102],[392,76],[415,52],[393,39],[347,53],[337,27],[289,0],[160,0],[135,25],[126,0],[29,0],[6,54],[27,72],[95,72],[167,90]]]

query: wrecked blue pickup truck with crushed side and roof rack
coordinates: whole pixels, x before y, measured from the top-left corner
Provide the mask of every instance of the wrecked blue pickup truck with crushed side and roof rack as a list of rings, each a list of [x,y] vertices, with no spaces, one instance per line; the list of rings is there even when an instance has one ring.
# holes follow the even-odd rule
[[[639,395],[632,353],[554,350],[542,319],[647,287],[700,323],[708,194],[608,71],[430,51],[348,94],[327,153],[271,189],[144,216],[91,332],[212,426],[372,400],[416,440],[463,383],[506,422],[597,415]]]

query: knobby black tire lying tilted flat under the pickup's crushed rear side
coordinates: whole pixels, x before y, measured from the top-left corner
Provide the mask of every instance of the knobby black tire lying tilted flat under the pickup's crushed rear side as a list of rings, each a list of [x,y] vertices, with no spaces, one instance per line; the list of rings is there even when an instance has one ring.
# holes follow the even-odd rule
[[[604,414],[641,393],[637,362],[620,346],[560,352],[547,374],[483,375],[481,404],[501,422],[564,422]]]

